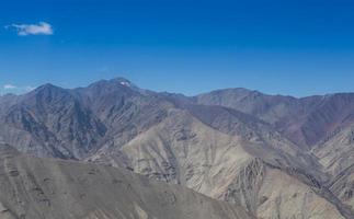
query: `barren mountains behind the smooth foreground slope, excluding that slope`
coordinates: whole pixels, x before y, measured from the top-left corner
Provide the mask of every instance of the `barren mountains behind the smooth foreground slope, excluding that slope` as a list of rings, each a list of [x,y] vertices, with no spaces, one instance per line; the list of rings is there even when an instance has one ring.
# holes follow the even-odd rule
[[[1,96],[0,120],[0,141],[21,152],[98,165],[45,162],[133,171],[259,219],[354,218],[354,94],[296,99],[228,89],[189,97],[118,78]]]

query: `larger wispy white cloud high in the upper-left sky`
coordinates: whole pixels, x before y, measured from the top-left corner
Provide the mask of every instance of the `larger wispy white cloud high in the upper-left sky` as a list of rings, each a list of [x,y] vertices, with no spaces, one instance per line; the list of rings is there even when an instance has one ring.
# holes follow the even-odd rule
[[[5,26],[5,28],[15,30],[19,36],[54,34],[52,25],[46,22],[39,22],[37,24],[11,24]]]

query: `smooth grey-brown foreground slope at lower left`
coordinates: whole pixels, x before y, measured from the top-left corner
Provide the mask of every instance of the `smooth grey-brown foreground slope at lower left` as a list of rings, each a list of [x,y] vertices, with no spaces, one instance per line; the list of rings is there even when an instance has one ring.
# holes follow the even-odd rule
[[[241,207],[126,170],[23,155],[0,145],[1,219],[251,219]]]

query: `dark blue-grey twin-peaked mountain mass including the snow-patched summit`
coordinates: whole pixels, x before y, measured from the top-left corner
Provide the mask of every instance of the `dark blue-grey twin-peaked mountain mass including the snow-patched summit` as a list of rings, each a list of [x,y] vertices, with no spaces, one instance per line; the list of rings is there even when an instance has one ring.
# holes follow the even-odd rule
[[[160,122],[171,105],[125,79],[77,90],[45,84],[0,104],[0,139],[23,152],[68,159],[85,158],[104,145],[123,146]]]

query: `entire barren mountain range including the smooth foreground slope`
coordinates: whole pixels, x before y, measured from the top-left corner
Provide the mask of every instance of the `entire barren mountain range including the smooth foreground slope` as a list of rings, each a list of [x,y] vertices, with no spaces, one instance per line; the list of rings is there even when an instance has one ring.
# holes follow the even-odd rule
[[[354,93],[186,96],[117,78],[0,96],[0,122],[3,217],[354,218]]]

